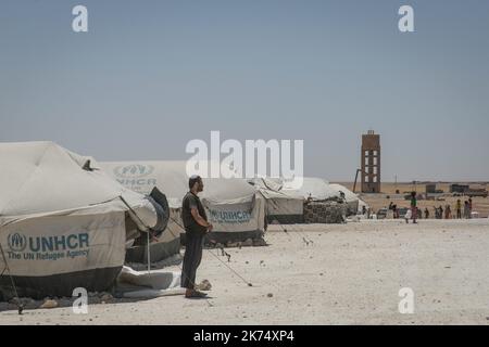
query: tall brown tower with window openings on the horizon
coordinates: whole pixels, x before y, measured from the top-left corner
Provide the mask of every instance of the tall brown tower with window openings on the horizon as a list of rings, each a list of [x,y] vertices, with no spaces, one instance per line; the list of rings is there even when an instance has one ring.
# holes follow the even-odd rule
[[[362,134],[362,193],[380,193],[380,136]]]

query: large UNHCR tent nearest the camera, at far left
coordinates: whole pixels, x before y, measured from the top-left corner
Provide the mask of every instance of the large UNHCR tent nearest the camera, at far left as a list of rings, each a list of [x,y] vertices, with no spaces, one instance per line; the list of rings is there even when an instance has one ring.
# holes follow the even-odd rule
[[[93,158],[55,143],[0,143],[0,244],[7,258],[5,264],[0,255],[0,272],[10,268],[22,295],[108,288],[123,267],[126,241],[138,234],[136,226],[158,223],[149,200],[106,176]],[[12,295],[10,284],[5,271],[5,296]]]

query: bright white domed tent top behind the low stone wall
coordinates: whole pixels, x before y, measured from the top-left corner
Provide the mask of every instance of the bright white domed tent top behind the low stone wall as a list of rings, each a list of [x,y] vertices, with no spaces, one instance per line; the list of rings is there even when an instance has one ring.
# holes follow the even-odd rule
[[[315,177],[303,177],[302,180],[284,181],[281,191],[300,195],[304,200],[312,198],[313,201],[341,197],[340,193],[333,189],[328,181]]]

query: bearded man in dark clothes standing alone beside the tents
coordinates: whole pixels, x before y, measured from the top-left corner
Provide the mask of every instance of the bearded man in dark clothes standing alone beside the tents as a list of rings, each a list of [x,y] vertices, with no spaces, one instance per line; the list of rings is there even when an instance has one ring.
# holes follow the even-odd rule
[[[203,191],[200,176],[193,175],[188,180],[190,191],[181,204],[181,220],[185,227],[185,256],[181,269],[181,286],[186,288],[185,297],[204,297],[205,294],[196,290],[197,268],[202,260],[204,236],[212,231],[208,216],[197,194]]]

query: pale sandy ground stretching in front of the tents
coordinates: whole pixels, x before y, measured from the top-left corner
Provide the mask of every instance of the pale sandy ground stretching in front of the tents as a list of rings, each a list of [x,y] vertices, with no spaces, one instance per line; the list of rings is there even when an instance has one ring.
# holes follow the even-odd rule
[[[267,247],[227,249],[251,287],[204,252],[208,300],[3,311],[0,324],[489,324],[489,219],[271,229]],[[414,291],[413,314],[398,310],[402,287]]]

